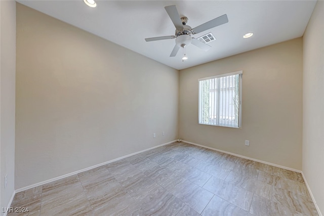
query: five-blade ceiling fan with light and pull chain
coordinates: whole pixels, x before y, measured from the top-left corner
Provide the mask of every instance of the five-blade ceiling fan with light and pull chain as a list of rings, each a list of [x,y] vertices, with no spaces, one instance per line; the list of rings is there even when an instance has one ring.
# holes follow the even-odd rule
[[[174,39],[176,38],[176,45],[174,46],[170,57],[175,57],[180,49],[182,47],[183,49],[193,44],[194,46],[204,50],[208,51],[211,46],[205,44],[204,42],[191,37],[191,35],[208,30],[210,28],[214,28],[216,26],[225,24],[228,22],[227,15],[224,14],[220,17],[217,17],[213,20],[210,20],[204,24],[201,24],[195,28],[191,28],[190,26],[186,25],[188,22],[187,17],[181,17],[177,11],[177,8],[175,5],[167,6],[165,7],[171,21],[173,22],[174,26],[176,27],[176,33],[175,35],[171,36],[161,36],[161,37],[149,37],[145,38],[147,42],[149,41],[155,41],[155,40],[164,40],[164,39]],[[185,56],[183,59],[186,59]]]

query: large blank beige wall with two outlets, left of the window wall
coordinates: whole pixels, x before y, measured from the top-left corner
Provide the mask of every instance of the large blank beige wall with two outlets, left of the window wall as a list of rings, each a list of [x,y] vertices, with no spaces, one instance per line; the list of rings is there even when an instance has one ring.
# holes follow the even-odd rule
[[[178,70],[20,4],[16,75],[16,189],[178,138]]]

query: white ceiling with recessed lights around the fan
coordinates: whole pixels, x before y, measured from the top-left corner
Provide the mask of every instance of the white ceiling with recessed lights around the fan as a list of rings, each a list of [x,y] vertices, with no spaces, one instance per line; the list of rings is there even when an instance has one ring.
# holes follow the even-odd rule
[[[17,1],[122,47],[181,70],[303,35],[316,1]],[[188,60],[182,51],[169,57],[175,39],[146,42],[146,37],[174,35],[175,27],[165,6],[176,5],[192,28],[227,14],[228,23],[195,34],[212,32],[215,41],[205,52],[190,45]],[[245,33],[253,32],[250,38]]]

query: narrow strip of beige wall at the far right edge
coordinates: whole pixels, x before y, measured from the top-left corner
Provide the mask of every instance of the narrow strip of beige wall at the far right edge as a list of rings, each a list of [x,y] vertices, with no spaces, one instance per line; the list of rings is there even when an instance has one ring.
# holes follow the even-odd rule
[[[316,3],[303,37],[303,173],[324,213],[324,2]]]

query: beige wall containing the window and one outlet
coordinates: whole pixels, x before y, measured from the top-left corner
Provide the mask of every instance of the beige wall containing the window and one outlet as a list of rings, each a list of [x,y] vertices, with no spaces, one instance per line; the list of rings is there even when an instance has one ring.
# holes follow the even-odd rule
[[[302,69],[297,38],[181,70],[180,138],[301,170]],[[197,79],[238,70],[243,70],[242,128],[198,124]]]

